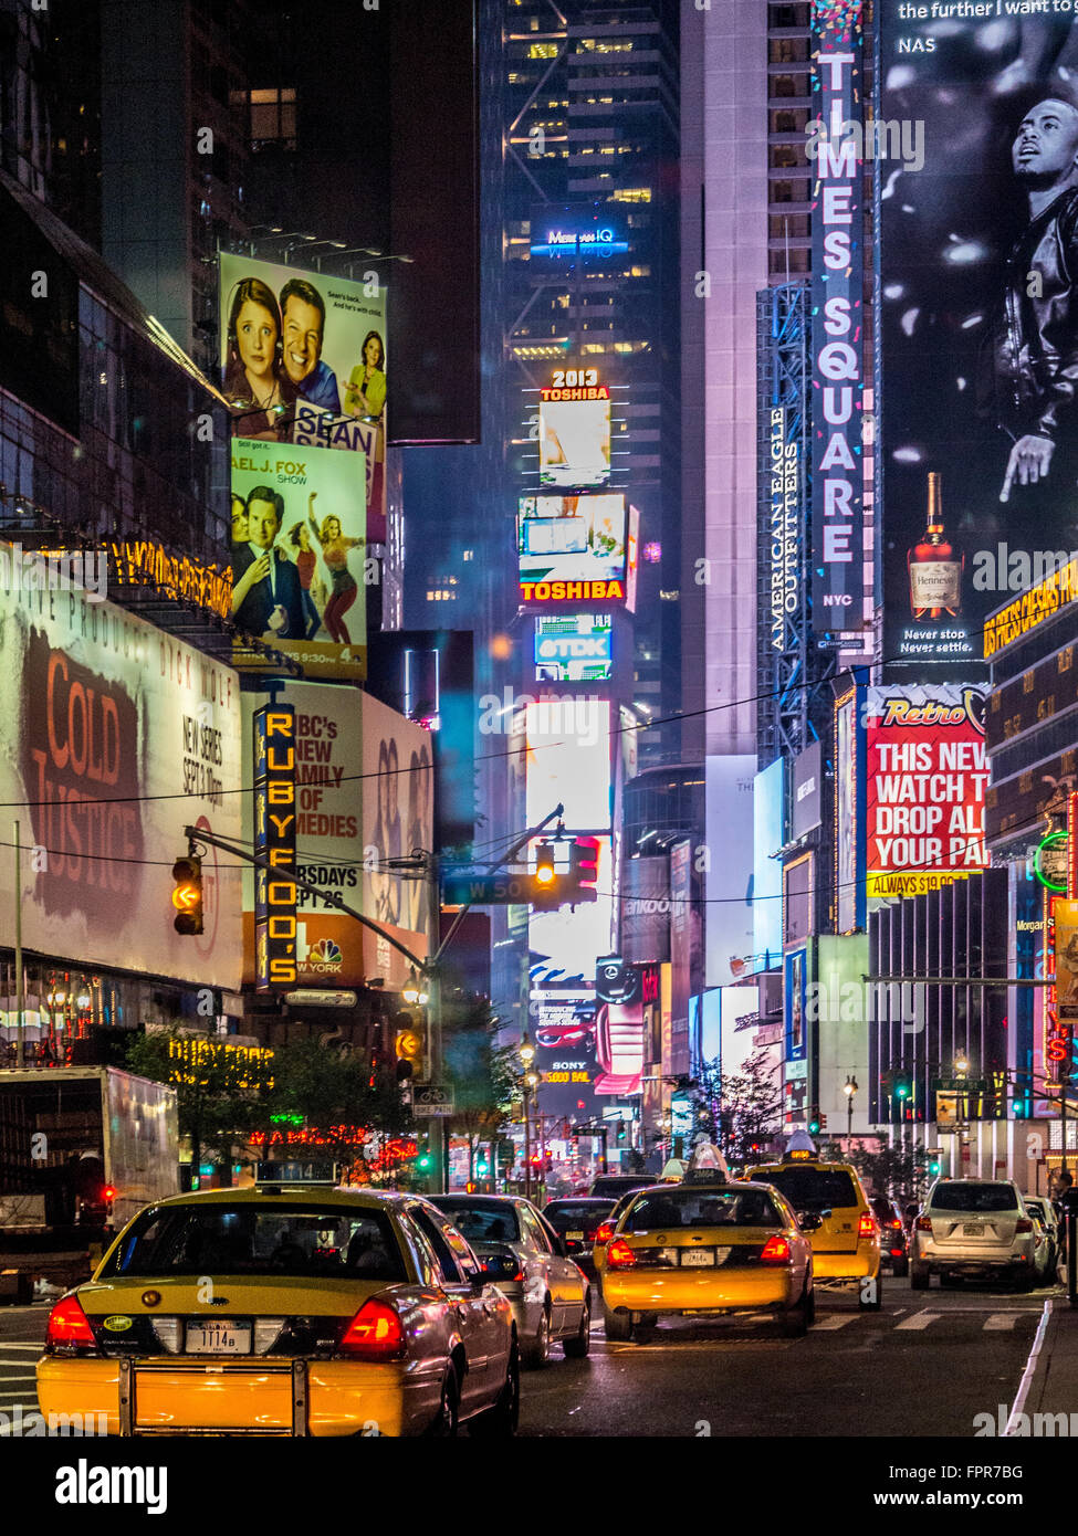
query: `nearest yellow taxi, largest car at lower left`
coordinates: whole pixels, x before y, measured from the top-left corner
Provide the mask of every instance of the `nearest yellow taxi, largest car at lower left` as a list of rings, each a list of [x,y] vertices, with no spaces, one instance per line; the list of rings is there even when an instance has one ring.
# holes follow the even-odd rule
[[[512,1309],[446,1215],[418,1195],[278,1177],[161,1200],[123,1229],[52,1309],[46,1421],[103,1415],[132,1436],[515,1433]]]

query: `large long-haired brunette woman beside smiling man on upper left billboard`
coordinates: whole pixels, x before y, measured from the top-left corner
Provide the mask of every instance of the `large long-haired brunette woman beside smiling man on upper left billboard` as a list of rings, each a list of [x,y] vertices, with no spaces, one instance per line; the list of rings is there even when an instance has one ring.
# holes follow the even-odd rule
[[[232,295],[225,393],[234,438],[284,441],[298,392],[283,367],[277,298],[261,278],[243,278]]]

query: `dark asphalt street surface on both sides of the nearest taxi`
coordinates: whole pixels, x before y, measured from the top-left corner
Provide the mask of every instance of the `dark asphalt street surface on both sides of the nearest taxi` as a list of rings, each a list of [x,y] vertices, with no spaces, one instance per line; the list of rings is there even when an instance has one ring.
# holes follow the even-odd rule
[[[600,1322],[584,1361],[552,1352],[526,1372],[523,1436],[970,1436],[977,1413],[1004,1419],[1050,1289],[966,1286],[913,1293],[887,1278],[878,1313],[818,1295],[817,1324],[783,1339],[770,1319],[677,1319],[611,1344]],[[37,1412],[34,1361],[46,1306],[0,1307],[0,1413]],[[1076,1405],[1078,1407],[1078,1405]],[[29,1427],[25,1424],[25,1427]],[[5,1433],[0,1421],[0,1435]]]

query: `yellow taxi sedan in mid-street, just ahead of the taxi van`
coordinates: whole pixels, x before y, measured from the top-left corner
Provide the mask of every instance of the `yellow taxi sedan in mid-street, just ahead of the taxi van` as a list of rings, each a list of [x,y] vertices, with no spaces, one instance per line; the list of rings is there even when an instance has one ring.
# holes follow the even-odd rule
[[[812,1243],[781,1193],[701,1169],[634,1195],[606,1246],[607,1339],[661,1316],[758,1312],[789,1338],[815,1321]]]

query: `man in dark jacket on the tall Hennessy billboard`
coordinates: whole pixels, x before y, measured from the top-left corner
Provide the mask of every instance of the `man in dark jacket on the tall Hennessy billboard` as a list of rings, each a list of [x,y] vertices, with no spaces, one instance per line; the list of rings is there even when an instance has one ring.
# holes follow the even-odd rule
[[[1018,126],[1010,160],[1029,224],[1007,261],[981,378],[983,410],[1012,444],[1000,501],[1049,475],[1055,492],[1075,487],[1078,106],[1041,97]]]

